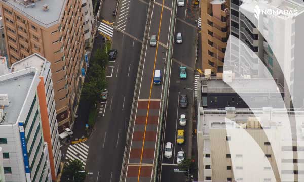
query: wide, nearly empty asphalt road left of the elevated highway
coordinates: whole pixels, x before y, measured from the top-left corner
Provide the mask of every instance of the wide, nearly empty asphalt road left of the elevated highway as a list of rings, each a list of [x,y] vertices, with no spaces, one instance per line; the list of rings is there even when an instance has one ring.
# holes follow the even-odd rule
[[[144,1],[129,1],[128,4],[124,32],[142,40],[148,4]],[[100,103],[104,113],[99,114],[89,139],[86,170],[93,174],[87,175],[86,181],[119,181],[120,178],[142,44],[119,31],[114,32],[112,40],[112,48],[117,49],[118,55],[108,64],[108,95],[106,103]]]

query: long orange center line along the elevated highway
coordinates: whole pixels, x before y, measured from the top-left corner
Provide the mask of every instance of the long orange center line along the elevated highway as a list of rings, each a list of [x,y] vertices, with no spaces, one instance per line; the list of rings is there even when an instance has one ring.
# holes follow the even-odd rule
[[[155,51],[155,58],[154,58],[154,66],[153,66],[153,73],[152,73],[152,79],[151,79],[151,85],[150,85],[150,95],[149,95],[148,108],[147,108],[147,117],[146,117],[146,122],[145,122],[145,126],[144,126],[143,142],[142,142],[142,148],[141,148],[141,155],[140,155],[140,163],[139,163],[137,182],[139,182],[139,177],[140,177],[141,162],[142,162],[143,148],[144,148],[144,142],[145,142],[145,134],[146,134],[146,128],[147,128],[147,122],[148,122],[148,115],[149,115],[149,108],[150,108],[150,99],[151,99],[151,94],[152,94],[153,78],[154,78],[154,71],[155,71],[156,58],[157,58],[157,51],[158,51],[158,45],[159,45],[158,42],[159,42],[159,39],[160,39],[160,32],[161,32],[161,25],[162,25],[164,3],[165,3],[165,0],[163,0],[163,4],[162,4],[160,25],[159,25],[158,35],[157,35],[157,43],[156,43],[156,51]]]

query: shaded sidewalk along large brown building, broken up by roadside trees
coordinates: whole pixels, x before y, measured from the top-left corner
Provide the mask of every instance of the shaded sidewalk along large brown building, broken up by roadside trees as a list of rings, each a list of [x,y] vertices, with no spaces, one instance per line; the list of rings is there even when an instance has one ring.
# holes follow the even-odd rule
[[[103,37],[96,33],[97,38],[94,40],[93,48],[92,48],[92,55],[90,60],[93,59],[95,51],[99,48],[102,49],[104,45]],[[90,62],[89,62],[90,64]],[[90,66],[88,67],[88,71],[90,70]],[[87,78],[87,77],[86,77]],[[85,79],[87,82],[88,79]],[[73,126],[73,140],[75,138],[80,139],[82,136],[87,136],[86,124],[88,123],[89,119],[89,112],[90,112],[90,105],[88,102],[80,100],[79,107],[77,109],[77,118],[75,119],[74,126]]]

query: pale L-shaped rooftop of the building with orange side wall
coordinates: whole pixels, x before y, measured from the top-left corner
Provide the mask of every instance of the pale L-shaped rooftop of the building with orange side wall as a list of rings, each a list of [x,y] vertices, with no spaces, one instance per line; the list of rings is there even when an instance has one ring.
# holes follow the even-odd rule
[[[47,61],[46,58],[40,56],[37,53],[34,53],[11,66],[11,72],[20,71],[26,68],[34,67],[37,69],[37,72],[40,76],[43,76],[45,79],[47,77],[48,72],[45,70],[49,70],[51,63]],[[45,80],[44,80],[45,81]]]

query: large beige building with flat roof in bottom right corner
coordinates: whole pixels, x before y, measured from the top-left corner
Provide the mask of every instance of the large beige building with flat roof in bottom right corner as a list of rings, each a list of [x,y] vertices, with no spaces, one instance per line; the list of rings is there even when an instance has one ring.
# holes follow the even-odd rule
[[[199,181],[303,181],[304,111],[199,111]]]

